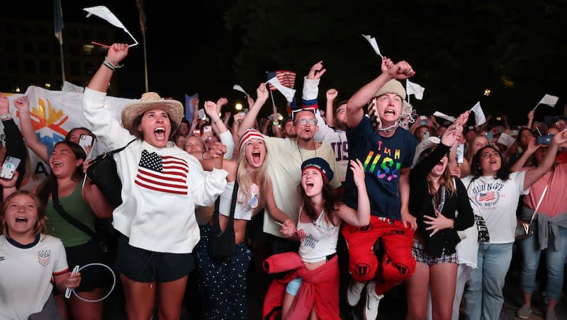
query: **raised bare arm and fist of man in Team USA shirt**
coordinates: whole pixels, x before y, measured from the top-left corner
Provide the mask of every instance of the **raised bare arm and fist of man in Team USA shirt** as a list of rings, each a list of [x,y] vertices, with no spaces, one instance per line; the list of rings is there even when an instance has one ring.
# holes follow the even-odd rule
[[[356,127],[360,123],[362,117],[364,117],[364,106],[369,103],[371,98],[374,98],[374,93],[379,88],[382,88],[386,82],[391,79],[408,79],[415,74],[408,62],[400,61],[396,64],[391,64],[391,60],[386,57],[382,59],[381,70],[381,74],[376,79],[360,88],[349,99],[347,103],[347,125],[349,127]]]

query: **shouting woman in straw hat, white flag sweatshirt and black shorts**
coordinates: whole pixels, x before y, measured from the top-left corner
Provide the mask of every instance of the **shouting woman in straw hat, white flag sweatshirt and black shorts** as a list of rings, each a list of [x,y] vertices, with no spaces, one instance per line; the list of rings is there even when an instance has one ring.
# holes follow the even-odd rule
[[[205,173],[195,157],[170,141],[183,117],[179,101],[144,93],[125,105],[122,126],[104,107],[113,72],[128,55],[128,45],[113,44],[86,87],[83,113],[106,149],[115,155],[122,181],[122,205],[113,212],[120,232],[114,267],[123,282],[130,319],[150,319],[157,296],[159,319],[179,319],[191,251],[199,240],[195,205],[211,205],[226,186],[221,152]]]

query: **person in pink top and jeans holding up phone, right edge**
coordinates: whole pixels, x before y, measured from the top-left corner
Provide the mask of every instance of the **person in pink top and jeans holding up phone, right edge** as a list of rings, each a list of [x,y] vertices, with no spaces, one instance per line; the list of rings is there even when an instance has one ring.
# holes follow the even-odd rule
[[[549,151],[548,141],[560,131],[549,127],[545,136],[532,139],[524,155],[512,166],[512,171],[527,170],[539,166]],[[543,142],[543,143],[542,143]],[[533,154],[534,166],[526,166],[529,154]],[[521,219],[529,221],[537,208],[537,215],[532,222],[534,234],[517,240],[522,252],[522,276],[520,285],[524,295],[522,307],[517,310],[520,319],[527,319],[532,312],[532,294],[535,289],[536,273],[540,258],[545,259],[546,288],[549,298],[546,319],[555,319],[555,306],[561,299],[563,289],[563,270],[567,257],[567,163],[555,163],[551,171],[539,178],[529,188],[529,195],[522,200]],[[552,190],[552,192],[551,192]],[[543,254],[541,254],[543,253]]]

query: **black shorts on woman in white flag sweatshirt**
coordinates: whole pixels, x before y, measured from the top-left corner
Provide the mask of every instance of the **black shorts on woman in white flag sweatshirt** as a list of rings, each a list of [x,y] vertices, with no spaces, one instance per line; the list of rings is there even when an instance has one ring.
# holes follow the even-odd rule
[[[163,253],[136,248],[128,236],[118,233],[114,268],[136,282],[169,282],[183,278],[195,268],[193,253]]]

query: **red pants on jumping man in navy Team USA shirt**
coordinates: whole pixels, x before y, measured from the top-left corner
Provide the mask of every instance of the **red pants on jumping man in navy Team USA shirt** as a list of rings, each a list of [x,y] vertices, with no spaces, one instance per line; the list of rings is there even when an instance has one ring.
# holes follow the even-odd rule
[[[349,271],[354,280],[376,280],[376,293],[382,295],[398,283],[411,277],[415,271],[412,256],[413,232],[400,220],[371,216],[370,224],[353,227],[344,224],[342,234],[349,248]],[[374,243],[380,239],[384,254],[378,268]]]

